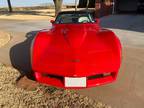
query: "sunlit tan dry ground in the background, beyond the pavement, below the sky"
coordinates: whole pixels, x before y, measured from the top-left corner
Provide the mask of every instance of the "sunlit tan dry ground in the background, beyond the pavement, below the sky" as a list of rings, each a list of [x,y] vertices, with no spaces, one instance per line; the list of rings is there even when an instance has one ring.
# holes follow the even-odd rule
[[[62,11],[75,10],[74,8],[63,8]],[[79,9],[81,10],[81,9]],[[13,13],[0,12],[0,19],[9,20],[50,20],[54,19],[54,9],[34,9],[27,11],[14,11]]]

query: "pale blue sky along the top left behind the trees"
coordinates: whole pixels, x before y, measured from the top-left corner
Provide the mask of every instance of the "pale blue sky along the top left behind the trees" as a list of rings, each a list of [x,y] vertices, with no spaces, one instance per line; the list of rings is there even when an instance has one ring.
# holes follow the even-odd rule
[[[64,4],[74,3],[75,0],[63,0]],[[13,6],[37,6],[43,3],[53,3],[53,0],[11,0]],[[7,0],[0,0],[0,7],[6,7]]]

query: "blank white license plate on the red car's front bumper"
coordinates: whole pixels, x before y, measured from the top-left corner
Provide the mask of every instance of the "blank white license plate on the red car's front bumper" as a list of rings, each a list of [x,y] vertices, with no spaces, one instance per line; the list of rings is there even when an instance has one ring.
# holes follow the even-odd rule
[[[86,77],[65,77],[65,87],[86,87]]]

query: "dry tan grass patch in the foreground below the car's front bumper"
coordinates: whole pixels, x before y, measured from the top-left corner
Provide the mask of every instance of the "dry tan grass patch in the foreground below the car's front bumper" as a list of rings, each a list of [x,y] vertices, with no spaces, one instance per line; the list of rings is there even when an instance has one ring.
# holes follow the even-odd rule
[[[17,87],[20,73],[0,63],[0,108],[111,108],[74,90],[39,84],[35,89]]]

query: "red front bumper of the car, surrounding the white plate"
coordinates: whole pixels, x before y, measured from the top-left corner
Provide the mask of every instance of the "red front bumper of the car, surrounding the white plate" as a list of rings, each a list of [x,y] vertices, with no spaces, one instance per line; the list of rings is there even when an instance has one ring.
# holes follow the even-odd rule
[[[88,77],[82,76],[82,77],[86,77],[87,79],[86,87],[65,87],[64,77],[62,76],[41,74],[39,72],[35,72],[34,75],[36,80],[40,83],[44,83],[47,85],[60,87],[60,88],[66,88],[66,89],[81,89],[81,88],[89,88],[89,87],[95,87],[95,86],[111,83],[116,80],[117,72],[111,72],[107,75],[99,74],[99,75],[88,76]]]

